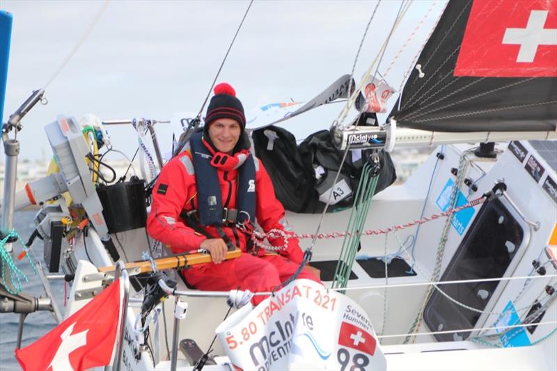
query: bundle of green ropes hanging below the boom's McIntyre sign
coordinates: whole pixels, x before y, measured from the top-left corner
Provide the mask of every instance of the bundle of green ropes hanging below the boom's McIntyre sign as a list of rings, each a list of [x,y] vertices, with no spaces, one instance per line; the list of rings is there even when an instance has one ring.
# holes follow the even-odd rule
[[[356,189],[356,196],[354,197],[354,205],[350,213],[350,219],[348,219],[347,233],[336,265],[333,288],[345,288],[348,284],[352,265],[354,265],[354,260],[356,260],[363,225],[366,223],[371,200],[373,194],[375,194],[375,187],[379,179],[377,166],[378,164],[370,164],[369,162],[366,162],[363,166],[360,182]]]

